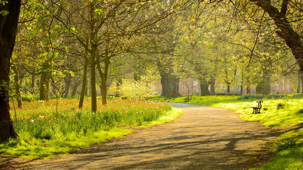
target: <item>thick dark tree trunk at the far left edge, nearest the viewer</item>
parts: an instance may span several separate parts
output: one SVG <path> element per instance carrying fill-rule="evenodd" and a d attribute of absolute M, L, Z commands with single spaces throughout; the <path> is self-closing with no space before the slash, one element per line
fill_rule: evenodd
<path fill-rule="evenodd" d="M 21 1 L 8 0 L 2 10 L 9 13 L 0 15 L 0 143 L 18 137 L 9 113 L 9 72 L 10 60 L 15 46 Z"/>

